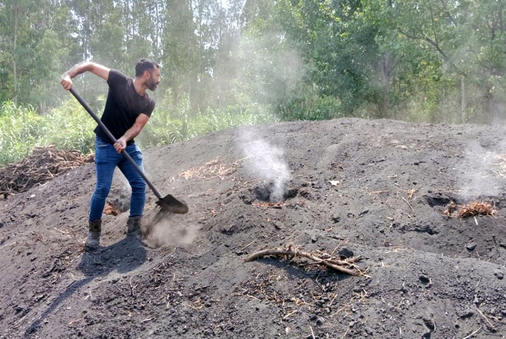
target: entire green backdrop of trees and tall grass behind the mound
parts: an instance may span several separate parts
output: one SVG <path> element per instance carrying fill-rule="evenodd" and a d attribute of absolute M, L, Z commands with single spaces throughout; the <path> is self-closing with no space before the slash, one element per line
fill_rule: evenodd
<path fill-rule="evenodd" d="M 91 149 L 93 121 L 75 103 L 59 107 L 69 99 L 60 74 L 90 59 L 131 77 L 141 57 L 161 64 L 152 133 L 144 136 L 152 145 L 276 119 L 506 121 L 501 1 L 226 3 L 4 0 L 0 102 L 10 107 L 4 115 L 16 110 L 19 118 L 3 121 L 15 130 L 3 137 L 26 139 L 9 142 L 6 159 L 34 142 Z M 95 98 L 105 95 L 105 81 L 87 73 L 74 83 L 95 110 L 103 106 Z M 40 124 L 38 132 L 23 130 L 21 117 Z M 57 132 L 64 129 L 71 135 Z"/>

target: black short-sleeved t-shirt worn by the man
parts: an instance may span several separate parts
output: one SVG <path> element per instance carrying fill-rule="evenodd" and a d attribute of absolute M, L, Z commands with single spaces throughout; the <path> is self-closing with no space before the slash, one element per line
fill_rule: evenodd
<path fill-rule="evenodd" d="M 147 93 L 139 95 L 134 88 L 134 80 L 115 69 L 109 71 L 107 84 L 109 85 L 109 92 L 107 93 L 104 113 L 100 120 L 112 135 L 119 139 L 128 129 L 134 126 L 135 120 L 141 113 L 151 117 L 155 102 Z M 111 142 L 100 126 L 95 128 L 95 134 L 105 141 Z M 128 145 L 133 143 L 134 140 L 127 142 Z"/>

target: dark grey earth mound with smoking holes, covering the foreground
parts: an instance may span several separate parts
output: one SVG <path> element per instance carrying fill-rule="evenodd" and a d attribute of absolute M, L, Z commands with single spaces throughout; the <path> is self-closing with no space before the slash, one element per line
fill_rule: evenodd
<path fill-rule="evenodd" d="M 0 338 L 503 338 L 505 135 L 342 119 L 145 150 L 148 177 L 190 212 L 149 246 L 125 239 L 128 212 L 104 215 L 92 253 L 94 166 L 71 170 L 0 201 Z M 116 173 L 110 201 L 123 187 Z M 497 214 L 446 216 L 451 201 Z M 244 262 L 289 245 L 361 256 L 366 276 Z"/>

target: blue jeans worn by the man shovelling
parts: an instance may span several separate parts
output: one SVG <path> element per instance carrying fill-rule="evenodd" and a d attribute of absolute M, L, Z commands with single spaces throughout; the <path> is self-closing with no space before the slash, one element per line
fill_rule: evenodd
<path fill-rule="evenodd" d="M 142 152 L 136 144 L 126 146 L 126 152 L 134 162 L 144 171 L 142 166 Z M 129 181 L 132 187 L 130 198 L 130 216 L 142 215 L 146 204 L 146 182 L 135 170 L 134 166 L 116 152 L 111 143 L 100 137 L 95 140 L 95 169 L 97 185 L 90 201 L 90 220 L 101 219 L 105 207 L 105 200 L 111 189 L 112 176 L 116 166 Z"/>

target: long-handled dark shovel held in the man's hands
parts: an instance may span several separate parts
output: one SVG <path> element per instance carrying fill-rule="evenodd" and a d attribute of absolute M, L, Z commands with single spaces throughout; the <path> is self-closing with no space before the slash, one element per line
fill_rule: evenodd
<path fill-rule="evenodd" d="M 88 106 L 86 102 L 84 102 L 81 97 L 74 91 L 73 88 L 70 88 L 70 93 L 79 101 L 79 103 L 82 105 L 82 107 L 85 107 L 85 109 L 88 111 L 88 113 L 92 116 L 93 119 L 97 122 L 97 124 L 102 128 L 102 130 L 107 134 L 109 139 L 111 139 L 112 143 L 116 143 L 116 138 L 112 135 L 112 133 L 105 127 L 104 123 L 97 117 L 95 112 L 91 110 L 91 108 Z M 179 201 L 178 199 L 174 198 L 170 194 L 167 194 L 165 197 L 162 198 L 161 194 L 158 192 L 158 190 L 155 189 L 155 186 L 148 180 L 144 172 L 141 170 L 139 166 L 135 163 L 134 159 L 130 157 L 130 155 L 126 152 L 125 149 L 122 151 L 123 156 L 128 160 L 132 166 L 134 166 L 135 170 L 139 172 L 139 174 L 143 177 L 144 181 L 148 184 L 149 188 L 153 191 L 155 196 L 158 198 L 158 201 L 156 204 L 162 209 L 164 212 L 172 212 L 172 213 L 178 213 L 178 214 L 185 214 L 188 213 L 188 206 L 186 206 L 185 203 Z"/>

